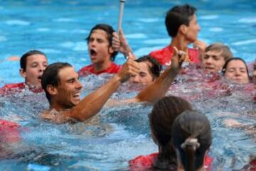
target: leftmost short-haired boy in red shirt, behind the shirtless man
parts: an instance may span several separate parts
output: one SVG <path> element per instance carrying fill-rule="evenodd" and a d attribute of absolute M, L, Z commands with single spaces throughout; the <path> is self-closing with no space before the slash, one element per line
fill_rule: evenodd
<path fill-rule="evenodd" d="M 0 93 L 21 92 L 26 87 L 32 92 L 42 92 L 41 77 L 48 65 L 46 55 L 39 50 L 30 50 L 21 56 L 20 65 L 20 75 L 25 82 L 6 84 L 0 89 Z"/>

